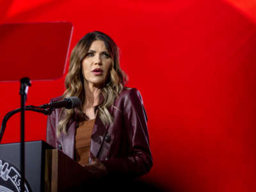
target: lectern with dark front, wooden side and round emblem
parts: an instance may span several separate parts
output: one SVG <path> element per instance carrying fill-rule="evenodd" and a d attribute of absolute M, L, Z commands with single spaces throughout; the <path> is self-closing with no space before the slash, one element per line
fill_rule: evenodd
<path fill-rule="evenodd" d="M 44 141 L 25 143 L 25 191 L 72 191 L 93 180 L 88 172 Z M 20 190 L 20 144 L 0 145 L 0 191 Z"/>

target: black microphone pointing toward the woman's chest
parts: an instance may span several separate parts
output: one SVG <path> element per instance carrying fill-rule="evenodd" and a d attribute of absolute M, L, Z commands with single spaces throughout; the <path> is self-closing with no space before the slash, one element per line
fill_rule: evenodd
<path fill-rule="evenodd" d="M 81 100 L 78 97 L 67 97 L 64 100 L 59 100 L 56 102 L 50 102 L 47 104 L 43 104 L 42 106 L 39 106 L 39 108 L 45 109 L 45 108 L 76 108 L 81 104 Z"/>

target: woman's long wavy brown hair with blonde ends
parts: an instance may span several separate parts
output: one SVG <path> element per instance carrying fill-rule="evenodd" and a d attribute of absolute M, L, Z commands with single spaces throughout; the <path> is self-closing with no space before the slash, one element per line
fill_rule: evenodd
<path fill-rule="evenodd" d="M 104 125 L 113 122 L 108 108 L 113 104 L 120 92 L 122 92 L 125 83 L 127 83 L 127 76 L 120 68 L 119 49 L 115 42 L 108 35 L 100 31 L 93 31 L 87 33 L 79 40 L 70 55 L 70 65 L 65 79 L 66 90 L 63 94 L 63 99 L 76 96 L 81 100 L 81 106 L 76 109 L 63 109 L 61 111 L 61 114 L 64 113 L 65 115 L 63 115 L 64 117 L 58 123 L 58 137 L 60 137 L 61 132 L 67 134 L 68 124 L 72 123 L 74 120 L 77 122 L 88 120 L 88 117 L 83 113 L 86 90 L 84 90 L 82 61 L 86 57 L 90 45 L 95 40 L 102 40 L 104 42 L 112 59 L 108 78 L 100 92 L 102 102 L 95 107 L 95 113 L 97 112 L 97 116 L 99 116 Z"/>

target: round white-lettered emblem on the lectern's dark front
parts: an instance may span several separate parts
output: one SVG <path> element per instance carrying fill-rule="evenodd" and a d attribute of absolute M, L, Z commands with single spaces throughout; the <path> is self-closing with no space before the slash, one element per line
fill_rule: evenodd
<path fill-rule="evenodd" d="M 0 159 L 0 191 L 19 192 L 21 184 L 20 172 L 13 164 Z M 28 182 L 25 182 L 25 191 L 31 191 L 28 188 Z"/>

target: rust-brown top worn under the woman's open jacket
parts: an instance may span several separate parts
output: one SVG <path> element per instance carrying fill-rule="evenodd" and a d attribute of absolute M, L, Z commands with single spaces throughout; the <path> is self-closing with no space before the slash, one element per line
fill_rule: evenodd
<path fill-rule="evenodd" d="M 81 165 L 89 163 L 92 129 L 95 119 L 79 123 L 76 129 L 76 161 Z"/>

